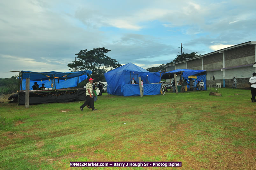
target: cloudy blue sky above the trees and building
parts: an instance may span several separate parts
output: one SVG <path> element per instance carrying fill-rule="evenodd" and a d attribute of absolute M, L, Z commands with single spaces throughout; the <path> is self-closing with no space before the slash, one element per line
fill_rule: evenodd
<path fill-rule="evenodd" d="M 182 52 L 206 54 L 256 40 L 255 0 L 0 1 L 0 78 L 70 72 L 80 50 L 105 47 L 144 69 Z"/>

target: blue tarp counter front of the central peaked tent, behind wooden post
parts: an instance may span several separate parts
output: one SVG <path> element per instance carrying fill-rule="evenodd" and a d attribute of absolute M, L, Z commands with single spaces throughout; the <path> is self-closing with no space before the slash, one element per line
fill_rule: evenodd
<path fill-rule="evenodd" d="M 161 83 L 143 84 L 144 95 L 159 95 Z M 140 96 L 139 84 L 123 84 L 121 86 L 122 96 Z"/>

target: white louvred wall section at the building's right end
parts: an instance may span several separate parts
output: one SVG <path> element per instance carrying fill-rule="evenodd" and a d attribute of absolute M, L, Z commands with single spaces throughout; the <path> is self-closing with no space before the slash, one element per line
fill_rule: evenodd
<path fill-rule="evenodd" d="M 250 78 L 252 77 L 252 73 L 255 72 L 255 67 L 240 67 L 226 70 L 225 79 L 236 78 Z"/>

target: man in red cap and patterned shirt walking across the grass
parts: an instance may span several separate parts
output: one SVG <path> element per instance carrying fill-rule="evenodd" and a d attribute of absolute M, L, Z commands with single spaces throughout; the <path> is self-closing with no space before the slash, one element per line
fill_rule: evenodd
<path fill-rule="evenodd" d="M 89 82 L 86 84 L 86 101 L 83 103 L 82 106 L 80 106 L 80 109 L 83 111 L 83 108 L 86 106 L 89 108 L 89 106 L 92 108 L 92 111 L 97 110 L 94 108 L 94 92 L 92 90 L 92 83 L 93 83 L 93 79 L 90 78 Z"/>

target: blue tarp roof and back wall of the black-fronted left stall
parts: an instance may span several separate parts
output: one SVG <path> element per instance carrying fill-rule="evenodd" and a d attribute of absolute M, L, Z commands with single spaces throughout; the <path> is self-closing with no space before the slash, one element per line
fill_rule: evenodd
<path fill-rule="evenodd" d="M 55 85 L 56 89 L 64 89 L 68 87 L 75 87 L 80 83 L 81 81 L 87 79 L 87 74 L 92 74 L 91 71 L 78 71 L 78 72 L 67 72 L 67 73 L 61 73 L 56 71 L 50 71 L 50 72 L 32 72 L 32 71 L 21 71 L 21 83 L 20 90 L 25 90 L 26 87 L 26 78 L 30 78 L 30 90 L 33 90 L 32 86 L 34 85 L 34 82 L 37 82 L 39 87 L 42 86 L 42 84 L 45 84 L 46 88 L 52 88 L 52 83 L 54 87 L 54 79 L 55 79 Z"/>

